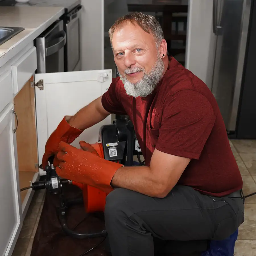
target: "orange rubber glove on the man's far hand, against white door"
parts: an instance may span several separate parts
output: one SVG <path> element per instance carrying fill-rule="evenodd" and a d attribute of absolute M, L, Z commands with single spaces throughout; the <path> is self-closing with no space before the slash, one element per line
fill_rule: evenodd
<path fill-rule="evenodd" d="M 59 161 L 56 158 L 56 154 L 59 151 L 59 143 L 64 141 L 68 144 L 72 143 L 81 133 L 83 130 L 79 130 L 71 125 L 66 121 L 64 117 L 55 131 L 50 135 L 48 138 L 46 145 L 45 145 L 45 153 L 42 159 L 42 167 L 45 168 L 48 165 L 48 158 L 50 156 L 55 155 L 53 160 L 53 166 L 58 166 Z"/>

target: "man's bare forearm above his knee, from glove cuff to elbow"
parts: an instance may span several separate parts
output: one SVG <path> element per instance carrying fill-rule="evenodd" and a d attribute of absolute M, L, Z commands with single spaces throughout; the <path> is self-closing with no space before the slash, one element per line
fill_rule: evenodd
<path fill-rule="evenodd" d="M 164 184 L 153 174 L 150 167 L 121 167 L 112 178 L 113 188 L 126 188 L 151 197 L 164 197 Z"/>

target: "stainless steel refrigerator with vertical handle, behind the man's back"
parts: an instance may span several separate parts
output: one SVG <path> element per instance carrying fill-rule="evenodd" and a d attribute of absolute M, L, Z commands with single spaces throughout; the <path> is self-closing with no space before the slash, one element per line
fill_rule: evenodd
<path fill-rule="evenodd" d="M 236 131 L 248 42 L 251 0 L 213 0 L 216 35 L 211 91 L 228 133 Z"/>

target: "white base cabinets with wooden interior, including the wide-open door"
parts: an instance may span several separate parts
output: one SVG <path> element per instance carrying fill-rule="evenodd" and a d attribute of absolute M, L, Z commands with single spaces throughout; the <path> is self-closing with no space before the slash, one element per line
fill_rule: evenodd
<path fill-rule="evenodd" d="M 25 57 L 31 57 L 34 50 L 27 53 Z M 20 192 L 20 188 L 30 186 L 45 174 L 39 165 L 47 139 L 65 115 L 74 115 L 100 97 L 112 82 L 111 69 L 32 74 L 27 80 L 33 67 L 21 72 L 27 77 L 21 76 L 20 82 L 19 71 L 24 70 L 26 61 L 23 58 L 16 63 L 10 69 L 17 79 L 7 90 L 7 95 L 14 93 L 13 98 L 8 98 L 9 103 L 0 110 L 0 256 L 11 256 L 34 194 L 32 189 Z M 10 83 L 10 69 L 1 76 L 0 85 Z M 97 142 L 100 127 L 110 123 L 108 116 L 86 129 L 72 145 L 79 147 L 79 140 Z"/>

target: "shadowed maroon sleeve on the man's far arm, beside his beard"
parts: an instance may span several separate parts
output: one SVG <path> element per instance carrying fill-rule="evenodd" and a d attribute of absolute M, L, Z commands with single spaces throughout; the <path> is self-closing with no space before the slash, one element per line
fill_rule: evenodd
<path fill-rule="evenodd" d="M 103 108 L 113 114 L 127 115 L 121 104 L 119 77 L 113 78 L 108 90 L 102 95 L 101 103 Z"/>

